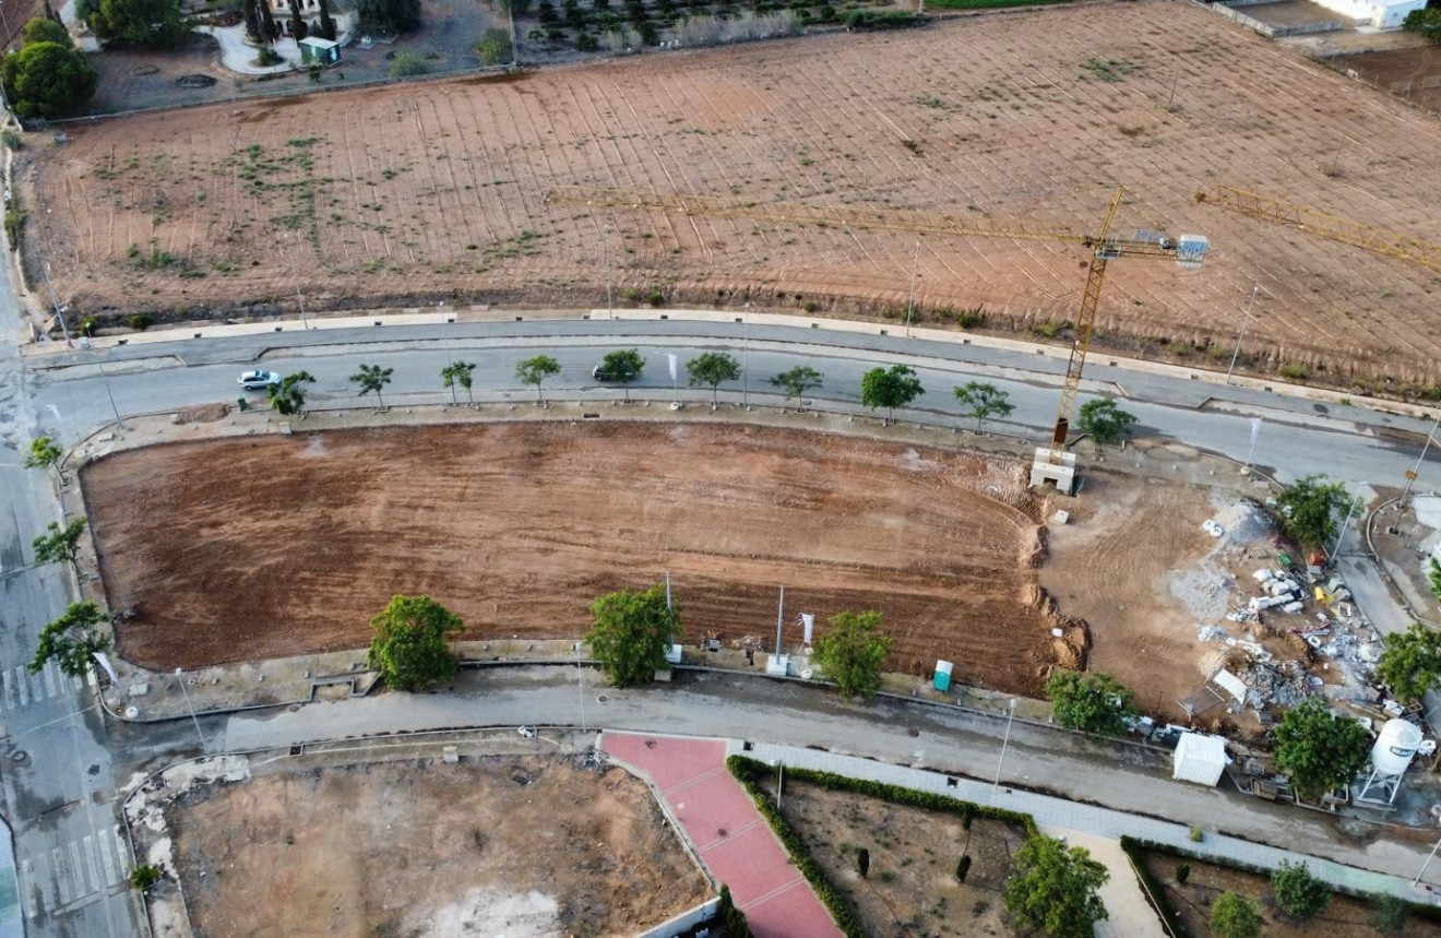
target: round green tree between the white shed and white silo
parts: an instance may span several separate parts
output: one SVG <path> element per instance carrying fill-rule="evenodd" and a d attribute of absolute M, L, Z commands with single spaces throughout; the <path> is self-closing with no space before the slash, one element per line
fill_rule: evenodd
<path fill-rule="evenodd" d="M 1331 713 L 1321 697 L 1287 710 L 1275 729 L 1275 764 L 1307 800 L 1349 785 L 1369 754 L 1370 739 L 1360 723 Z"/>

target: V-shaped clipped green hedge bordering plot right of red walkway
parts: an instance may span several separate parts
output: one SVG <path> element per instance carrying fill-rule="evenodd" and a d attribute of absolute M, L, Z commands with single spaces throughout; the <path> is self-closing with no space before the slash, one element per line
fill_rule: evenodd
<path fill-rule="evenodd" d="M 775 801 L 771 800 L 771 795 L 765 794 L 761 788 L 758 780 L 768 777 L 771 767 L 744 755 L 732 755 L 726 759 L 726 768 L 731 769 L 731 774 L 735 775 L 751 794 L 751 800 L 755 801 L 757 810 L 771 826 L 771 830 L 775 831 L 781 844 L 784 844 L 785 850 L 791 854 L 791 859 L 795 860 L 795 869 L 806 876 L 806 880 L 811 885 L 811 889 L 816 890 L 821 903 L 830 911 L 831 918 L 836 919 L 836 925 L 840 926 L 840 931 L 846 935 L 846 938 L 866 938 L 866 929 L 862 928 L 860 921 L 856 918 L 856 912 L 850 908 L 846 896 L 842 895 L 842 892 L 836 889 L 834 883 L 826 877 L 826 872 L 810 854 L 810 850 L 806 847 L 806 841 L 781 816 L 781 811 L 775 807 Z M 808 768 L 787 767 L 785 775 L 790 780 L 810 782 L 826 788 L 827 791 L 850 791 L 853 794 L 866 795 L 869 798 L 880 798 L 893 804 L 927 808 L 931 811 L 950 811 L 951 814 L 958 814 L 963 821 L 970 817 L 989 817 L 999 821 L 1009 821 L 1025 827 L 1027 837 L 1036 836 L 1036 821 L 1029 814 L 1020 814 L 1019 811 L 1006 811 L 1003 808 L 993 808 L 983 804 L 948 798 L 931 791 L 918 791 L 902 785 L 891 785 L 865 778 L 850 778 L 849 775 L 820 772 Z"/>

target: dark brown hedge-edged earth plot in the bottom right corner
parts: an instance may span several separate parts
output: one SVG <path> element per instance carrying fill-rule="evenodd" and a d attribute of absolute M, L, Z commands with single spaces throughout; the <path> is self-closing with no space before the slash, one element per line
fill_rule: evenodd
<path fill-rule="evenodd" d="M 1212 866 L 1200 860 L 1185 860 L 1190 865 L 1190 876 L 1185 885 L 1176 885 L 1176 865 L 1183 860 L 1176 857 L 1147 853 L 1146 866 L 1156 876 L 1157 882 L 1166 888 L 1172 906 L 1180 915 L 1187 934 L 1209 935 L 1210 903 L 1223 892 L 1235 892 L 1261 903 L 1261 916 L 1265 919 L 1264 932 L 1267 938 L 1304 938 L 1307 935 L 1327 935 L 1327 938 L 1379 938 L 1382 935 L 1370 924 L 1370 906 L 1350 896 L 1336 895 L 1326 912 L 1308 922 L 1295 922 L 1275 906 L 1271 893 L 1271 880 L 1267 876 L 1248 873 L 1244 870 Z M 1435 925 L 1411 918 L 1401 932 L 1411 938 L 1434 937 L 1441 934 Z"/>

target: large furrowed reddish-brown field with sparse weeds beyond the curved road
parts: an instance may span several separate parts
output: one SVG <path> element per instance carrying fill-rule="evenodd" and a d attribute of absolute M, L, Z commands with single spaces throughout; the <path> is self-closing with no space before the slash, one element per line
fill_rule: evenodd
<path fill-rule="evenodd" d="M 601 212 L 546 193 L 574 183 L 1092 231 L 1124 184 L 1117 232 L 1203 233 L 1213 251 L 1200 271 L 1112 265 L 1105 343 L 1223 360 L 1259 284 L 1248 354 L 1441 379 L 1435 272 L 1193 200 L 1231 184 L 1435 238 L 1435 117 L 1189 3 L 945 19 L 66 133 L 59 150 L 17 154 L 17 179 L 26 244 L 81 316 L 290 304 L 297 281 L 313 308 L 595 305 L 605 225 L 618 294 L 899 310 L 908 232 Z M 1075 317 L 1078 246 L 921 241 L 924 317 Z"/>

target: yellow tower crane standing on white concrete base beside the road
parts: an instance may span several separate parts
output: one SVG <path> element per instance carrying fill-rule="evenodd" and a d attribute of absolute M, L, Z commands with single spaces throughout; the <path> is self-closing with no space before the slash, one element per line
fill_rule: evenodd
<path fill-rule="evenodd" d="M 618 189 L 592 189 L 584 186 L 562 186 L 546 195 L 546 203 L 584 207 L 620 209 L 631 212 L 661 210 L 683 215 L 709 215 L 768 220 L 790 225 L 834 225 L 856 231 L 882 229 L 919 232 L 927 235 L 958 235 L 980 238 L 1012 238 L 1025 241 L 1050 241 L 1078 244 L 1091 251 L 1091 265 L 1085 290 L 1081 292 L 1081 311 L 1076 316 L 1075 339 L 1071 343 L 1071 359 L 1061 383 L 1061 402 L 1056 408 L 1056 425 L 1050 444 L 1036 448 L 1036 460 L 1030 468 L 1030 484 L 1053 483 L 1058 491 L 1071 493 L 1075 484 L 1075 454 L 1066 451 L 1066 437 L 1071 418 L 1075 415 L 1076 398 L 1081 395 L 1081 373 L 1085 369 L 1087 350 L 1095 331 L 1095 314 L 1101 303 L 1101 284 L 1105 280 L 1105 265 L 1120 258 L 1150 258 L 1176 261 L 1183 268 L 1200 267 L 1209 249 L 1209 242 L 1200 235 L 1170 238 L 1160 232 L 1140 232 L 1134 238 L 1115 238 L 1111 226 L 1121 207 L 1124 189 L 1115 196 L 1095 233 L 1079 233 L 1063 225 L 1048 222 L 990 219 L 957 219 L 927 212 L 875 212 L 855 206 L 810 206 L 795 203 L 746 202 L 715 196 L 687 196 L 680 193 L 641 193 Z"/>

